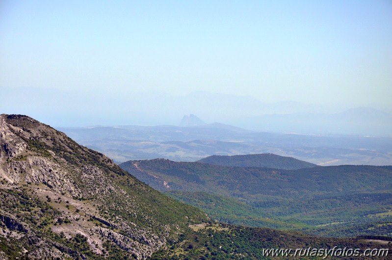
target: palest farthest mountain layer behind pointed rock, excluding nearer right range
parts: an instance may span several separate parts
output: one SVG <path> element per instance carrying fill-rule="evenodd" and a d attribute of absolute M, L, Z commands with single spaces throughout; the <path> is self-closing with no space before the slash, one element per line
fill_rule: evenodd
<path fill-rule="evenodd" d="M 194 114 L 206 123 L 232 124 L 246 129 L 247 127 L 235 122 L 265 115 L 332 115 L 361 107 L 374 108 L 379 113 L 392 115 L 392 107 L 381 104 L 349 106 L 294 101 L 268 103 L 252 96 L 207 91 L 187 95 L 170 95 L 164 92 L 120 95 L 110 91 L 90 94 L 86 91 L 75 93 L 70 90 L 22 87 L 17 88 L 16 92 L 18 100 L 14 99 L 14 89 L 3 91 L 1 113 L 26 114 L 55 127 L 178 126 L 183 115 Z M 45 102 L 31 102 L 43 98 Z"/>

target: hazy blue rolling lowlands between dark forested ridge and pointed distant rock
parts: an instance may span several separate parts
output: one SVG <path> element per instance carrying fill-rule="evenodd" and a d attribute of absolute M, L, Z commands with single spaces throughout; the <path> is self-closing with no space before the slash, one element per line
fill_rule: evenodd
<path fill-rule="evenodd" d="M 219 123 L 59 130 L 117 162 L 155 158 L 197 161 L 211 155 L 272 153 L 324 166 L 392 163 L 391 137 L 254 132 Z"/>

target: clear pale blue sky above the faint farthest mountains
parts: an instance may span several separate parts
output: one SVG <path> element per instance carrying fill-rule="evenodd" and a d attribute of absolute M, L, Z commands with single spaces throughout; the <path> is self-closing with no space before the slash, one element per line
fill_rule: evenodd
<path fill-rule="evenodd" d="M 392 1 L 1 0 L 16 87 L 392 105 Z"/>

